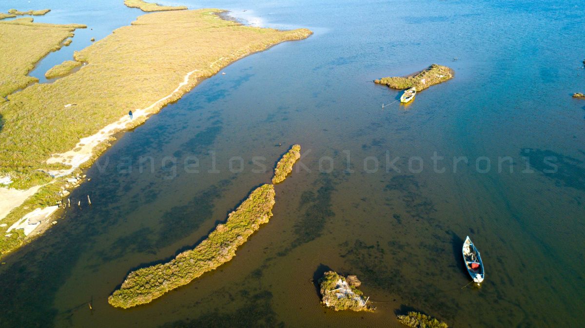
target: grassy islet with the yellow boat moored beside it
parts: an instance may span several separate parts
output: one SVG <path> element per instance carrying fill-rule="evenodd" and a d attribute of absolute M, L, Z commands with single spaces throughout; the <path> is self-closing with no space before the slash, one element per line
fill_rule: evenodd
<path fill-rule="evenodd" d="M 385 77 L 374 80 L 377 84 L 384 84 L 394 89 L 416 88 L 417 91 L 424 90 L 431 85 L 439 84 L 453 78 L 453 70 L 449 67 L 432 64 L 426 70 L 407 77 Z"/>

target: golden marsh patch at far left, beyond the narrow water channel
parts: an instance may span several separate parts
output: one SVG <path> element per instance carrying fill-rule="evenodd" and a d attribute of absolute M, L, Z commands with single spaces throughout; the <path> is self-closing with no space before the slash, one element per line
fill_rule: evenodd
<path fill-rule="evenodd" d="M 35 63 L 51 51 L 59 50 L 61 42 L 70 37 L 75 29 L 85 27 L 79 24 L 33 23 L 32 18 L 0 21 L 0 96 L 37 82 L 37 78 L 27 75 Z M 0 114 L 4 116 L 2 112 L 0 109 Z M 0 136 L 4 137 L 3 134 Z M 0 161 L 2 167 L 5 164 Z"/>

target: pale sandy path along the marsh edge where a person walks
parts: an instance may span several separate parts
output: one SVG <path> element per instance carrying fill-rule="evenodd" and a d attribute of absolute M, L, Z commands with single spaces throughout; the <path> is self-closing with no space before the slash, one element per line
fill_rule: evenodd
<path fill-rule="evenodd" d="M 165 102 L 168 98 L 171 98 L 173 95 L 175 95 L 177 92 L 179 92 L 182 87 L 187 85 L 189 83 L 189 78 L 191 77 L 191 74 L 193 74 L 194 72 L 197 72 L 197 71 L 199 71 L 199 70 L 194 70 L 194 71 L 188 72 L 185 75 L 183 82 L 181 82 L 178 85 L 178 87 L 176 89 L 174 89 L 173 92 L 171 92 L 171 94 L 164 96 L 163 98 L 160 98 L 159 100 L 154 102 L 152 105 L 148 106 L 147 108 L 136 109 L 135 111 L 132 111 L 133 119 L 146 118 L 147 115 L 149 115 L 150 113 L 153 112 L 153 109 L 157 109 L 157 106 L 159 106 L 161 103 Z M 75 168 L 78 168 L 81 164 L 90 160 L 90 158 L 92 156 L 92 151 L 94 150 L 95 146 L 98 146 L 98 144 L 108 140 L 116 132 L 125 129 L 126 125 L 130 122 L 132 122 L 132 119 L 130 119 L 130 116 L 125 115 L 125 116 L 123 116 L 123 118 L 119 119 L 117 122 L 114 122 L 114 123 L 111 123 L 110 125 L 105 126 L 103 129 L 99 130 L 98 133 L 96 133 L 92 136 L 89 136 L 89 137 L 82 138 L 77 143 L 77 146 L 75 146 L 75 149 L 77 149 L 77 150 L 70 150 L 70 151 L 67 151 L 66 153 L 62 153 L 62 154 L 54 154 L 53 157 L 51 157 L 51 158 L 49 158 L 49 160 L 47 160 L 47 164 L 63 163 L 63 164 L 71 165 L 71 168 L 69 168 L 68 170 L 48 171 L 48 173 L 50 175 L 53 175 L 53 177 L 62 177 L 63 175 L 71 174 L 71 172 L 73 172 L 73 170 L 75 170 Z"/>

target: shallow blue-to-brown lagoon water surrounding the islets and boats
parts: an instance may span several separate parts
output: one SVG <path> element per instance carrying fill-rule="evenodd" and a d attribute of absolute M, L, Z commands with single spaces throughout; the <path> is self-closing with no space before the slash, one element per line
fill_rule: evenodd
<path fill-rule="evenodd" d="M 186 4 L 315 34 L 233 63 L 121 134 L 71 195 L 93 205 L 68 209 L 3 259 L 1 327 L 399 327 L 394 315 L 408 309 L 454 327 L 583 322 L 585 102 L 570 97 L 585 89 L 578 2 Z M 141 13 L 75 6 L 81 16 L 67 22 L 88 26 Z M 431 63 L 455 79 L 381 109 L 398 92 L 371 80 Z M 306 168 L 277 185 L 274 217 L 230 263 L 149 305 L 108 305 L 130 270 L 197 244 L 269 182 L 293 143 Z M 199 172 L 185 171 L 190 157 Z M 467 164 L 453 170 L 454 157 Z M 481 288 L 462 288 L 467 234 L 486 265 Z M 309 279 L 327 268 L 357 274 L 378 311 L 322 308 Z"/>

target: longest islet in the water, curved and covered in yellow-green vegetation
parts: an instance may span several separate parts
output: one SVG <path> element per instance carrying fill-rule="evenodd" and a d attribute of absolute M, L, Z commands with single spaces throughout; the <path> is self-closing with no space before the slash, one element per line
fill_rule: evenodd
<path fill-rule="evenodd" d="M 274 186 L 256 188 L 238 209 L 229 213 L 226 223 L 218 225 L 197 247 L 178 254 L 168 263 L 130 272 L 108 302 L 125 309 L 149 303 L 228 262 L 236 255 L 238 246 L 269 221 L 273 206 Z"/>

